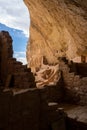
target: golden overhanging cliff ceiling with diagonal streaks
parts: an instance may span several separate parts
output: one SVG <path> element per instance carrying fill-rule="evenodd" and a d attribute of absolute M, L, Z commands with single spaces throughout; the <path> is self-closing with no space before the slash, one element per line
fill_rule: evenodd
<path fill-rule="evenodd" d="M 30 11 L 28 66 L 56 65 L 58 57 L 87 56 L 87 0 L 24 0 Z"/>

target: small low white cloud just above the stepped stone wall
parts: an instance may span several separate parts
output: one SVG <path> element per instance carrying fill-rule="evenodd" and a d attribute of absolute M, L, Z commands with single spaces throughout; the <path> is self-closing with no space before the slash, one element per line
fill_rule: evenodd
<path fill-rule="evenodd" d="M 17 61 L 21 61 L 23 64 L 27 64 L 26 52 L 14 52 L 14 57 L 17 58 Z"/>

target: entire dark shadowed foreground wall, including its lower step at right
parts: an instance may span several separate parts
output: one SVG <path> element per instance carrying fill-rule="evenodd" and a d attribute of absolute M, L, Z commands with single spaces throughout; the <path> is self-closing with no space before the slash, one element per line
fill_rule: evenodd
<path fill-rule="evenodd" d="M 65 130 L 65 115 L 55 106 L 48 108 L 44 93 L 37 88 L 0 93 L 0 130 L 50 130 L 55 122 Z"/>

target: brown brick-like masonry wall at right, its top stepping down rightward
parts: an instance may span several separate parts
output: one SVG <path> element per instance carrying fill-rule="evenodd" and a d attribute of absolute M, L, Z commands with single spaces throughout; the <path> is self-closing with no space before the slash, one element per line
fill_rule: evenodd
<path fill-rule="evenodd" d="M 80 77 L 74 72 L 70 73 L 70 68 L 63 61 L 60 62 L 64 85 L 65 99 L 70 103 L 87 104 L 87 77 Z"/>

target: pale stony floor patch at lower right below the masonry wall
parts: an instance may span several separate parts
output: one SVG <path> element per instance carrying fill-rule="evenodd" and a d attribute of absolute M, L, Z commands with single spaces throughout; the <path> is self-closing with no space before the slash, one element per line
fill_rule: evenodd
<path fill-rule="evenodd" d="M 64 109 L 69 118 L 87 124 L 87 106 L 61 104 L 59 107 Z"/>

